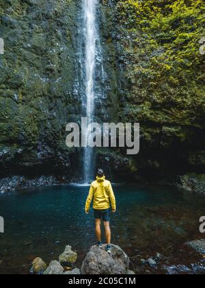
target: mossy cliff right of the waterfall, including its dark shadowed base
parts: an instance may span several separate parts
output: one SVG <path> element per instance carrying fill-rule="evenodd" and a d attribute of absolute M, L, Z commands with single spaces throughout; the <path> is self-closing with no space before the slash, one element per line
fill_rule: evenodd
<path fill-rule="evenodd" d="M 115 45 L 118 120 L 140 123 L 141 149 L 132 158 L 122 151 L 99 157 L 117 163 L 120 177 L 202 173 L 204 1 L 104 0 L 102 10 L 109 19 L 105 43 Z"/>

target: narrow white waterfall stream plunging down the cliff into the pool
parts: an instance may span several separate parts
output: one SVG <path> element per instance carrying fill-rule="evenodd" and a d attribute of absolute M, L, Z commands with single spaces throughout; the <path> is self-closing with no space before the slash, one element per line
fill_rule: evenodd
<path fill-rule="evenodd" d="M 96 70 L 96 27 L 97 0 L 83 0 L 83 25 L 85 39 L 85 101 L 87 124 L 94 120 L 94 76 Z M 90 133 L 87 129 L 85 136 Z M 85 147 L 83 152 L 84 182 L 88 183 L 94 177 L 94 149 Z"/>

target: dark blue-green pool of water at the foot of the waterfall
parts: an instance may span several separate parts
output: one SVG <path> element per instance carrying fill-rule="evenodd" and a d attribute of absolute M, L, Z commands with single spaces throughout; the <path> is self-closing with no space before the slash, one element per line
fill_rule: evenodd
<path fill-rule="evenodd" d="M 165 273 L 165 265 L 191 265 L 200 256 L 184 243 L 201 239 L 199 219 L 205 200 L 167 187 L 115 186 L 118 211 L 111 217 L 112 242 L 131 257 L 136 273 Z M 0 274 L 27 274 L 31 261 L 58 259 L 66 245 L 78 254 L 77 265 L 94 245 L 94 216 L 84 213 L 86 186 L 24 189 L 0 195 Z M 163 256 L 159 269 L 141 259 Z M 187 267 L 186 266 L 186 267 Z"/>

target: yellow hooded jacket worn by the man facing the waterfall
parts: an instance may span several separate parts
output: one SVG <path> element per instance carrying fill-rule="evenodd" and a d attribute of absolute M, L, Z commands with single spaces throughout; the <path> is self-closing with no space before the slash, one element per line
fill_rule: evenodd
<path fill-rule="evenodd" d="M 105 180 L 105 176 L 102 178 L 97 177 L 96 181 L 92 182 L 85 204 L 86 212 L 89 211 L 92 200 L 94 209 L 108 209 L 111 203 L 111 208 L 116 210 L 115 195 L 111 187 L 111 182 Z"/>

